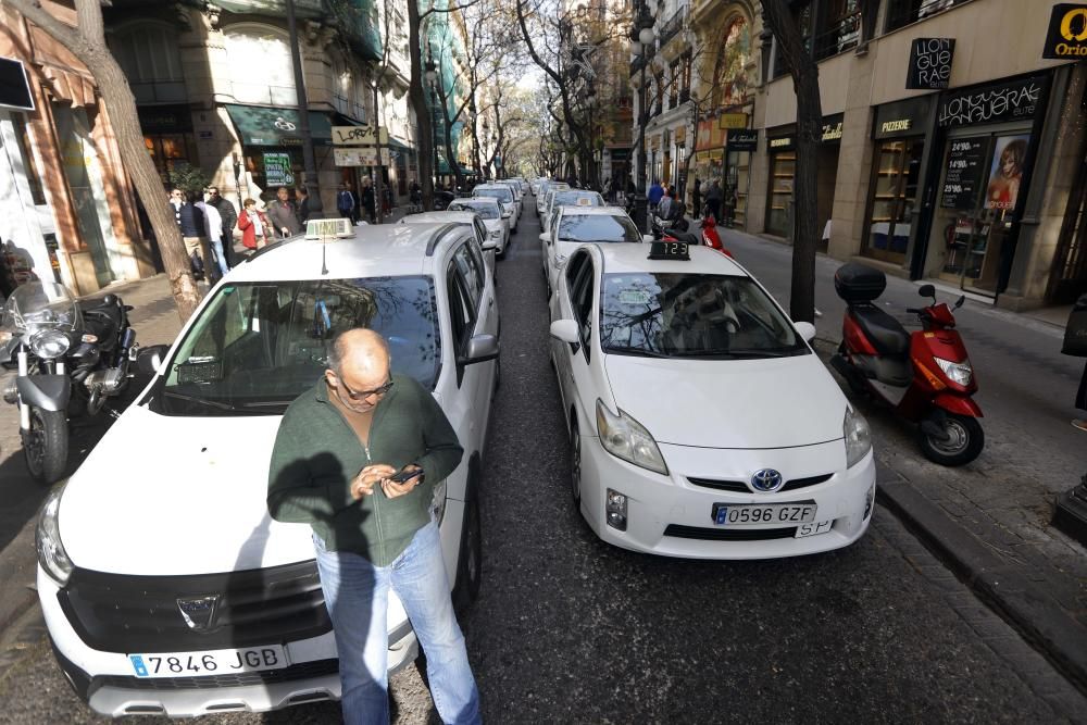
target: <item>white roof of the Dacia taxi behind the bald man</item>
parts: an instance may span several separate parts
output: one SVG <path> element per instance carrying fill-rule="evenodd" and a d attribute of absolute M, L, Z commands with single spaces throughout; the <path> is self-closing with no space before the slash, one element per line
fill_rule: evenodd
<path fill-rule="evenodd" d="M 322 241 L 299 235 L 268 245 L 234 267 L 226 283 L 425 274 L 430 257 L 468 233 L 462 224 L 448 222 L 374 224 L 353 232 L 349 239 Z"/>

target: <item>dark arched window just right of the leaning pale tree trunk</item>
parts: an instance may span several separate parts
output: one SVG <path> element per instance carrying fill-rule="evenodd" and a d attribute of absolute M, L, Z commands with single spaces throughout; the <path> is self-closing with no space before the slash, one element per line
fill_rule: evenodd
<path fill-rule="evenodd" d="M 185 101 L 177 32 L 171 25 L 154 22 L 125 25 L 110 36 L 109 45 L 137 103 Z"/>

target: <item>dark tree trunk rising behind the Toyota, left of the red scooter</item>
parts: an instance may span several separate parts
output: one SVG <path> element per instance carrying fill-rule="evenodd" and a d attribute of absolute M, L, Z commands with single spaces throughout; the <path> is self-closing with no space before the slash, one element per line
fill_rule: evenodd
<path fill-rule="evenodd" d="M 782 47 L 797 93 L 797 165 L 794 184 L 792 286 L 789 313 L 796 322 L 815 322 L 816 166 L 823 135 L 819 66 L 804 48 L 786 0 L 762 0 L 766 24 Z"/>

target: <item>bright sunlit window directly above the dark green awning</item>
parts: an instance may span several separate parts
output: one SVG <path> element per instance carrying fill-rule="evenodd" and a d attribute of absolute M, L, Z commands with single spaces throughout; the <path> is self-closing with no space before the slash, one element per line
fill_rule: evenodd
<path fill-rule="evenodd" d="M 287 34 L 266 25 L 232 25 L 226 38 L 234 98 L 241 103 L 298 105 Z"/>

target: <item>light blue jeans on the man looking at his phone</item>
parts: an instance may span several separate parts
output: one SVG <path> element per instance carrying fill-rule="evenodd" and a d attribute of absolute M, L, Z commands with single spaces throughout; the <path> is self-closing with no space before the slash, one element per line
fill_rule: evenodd
<path fill-rule="evenodd" d="M 339 652 L 343 722 L 389 722 L 386 615 L 390 586 L 426 653 L 430 697 L 442 722 L 482 722 L 479 693 L 449 595 L 438 525 L 432 521 L 418 529 L 389 566 L 374 566 L 350 552 L 327 551 L 317 536 L 313 543 Z"/>

